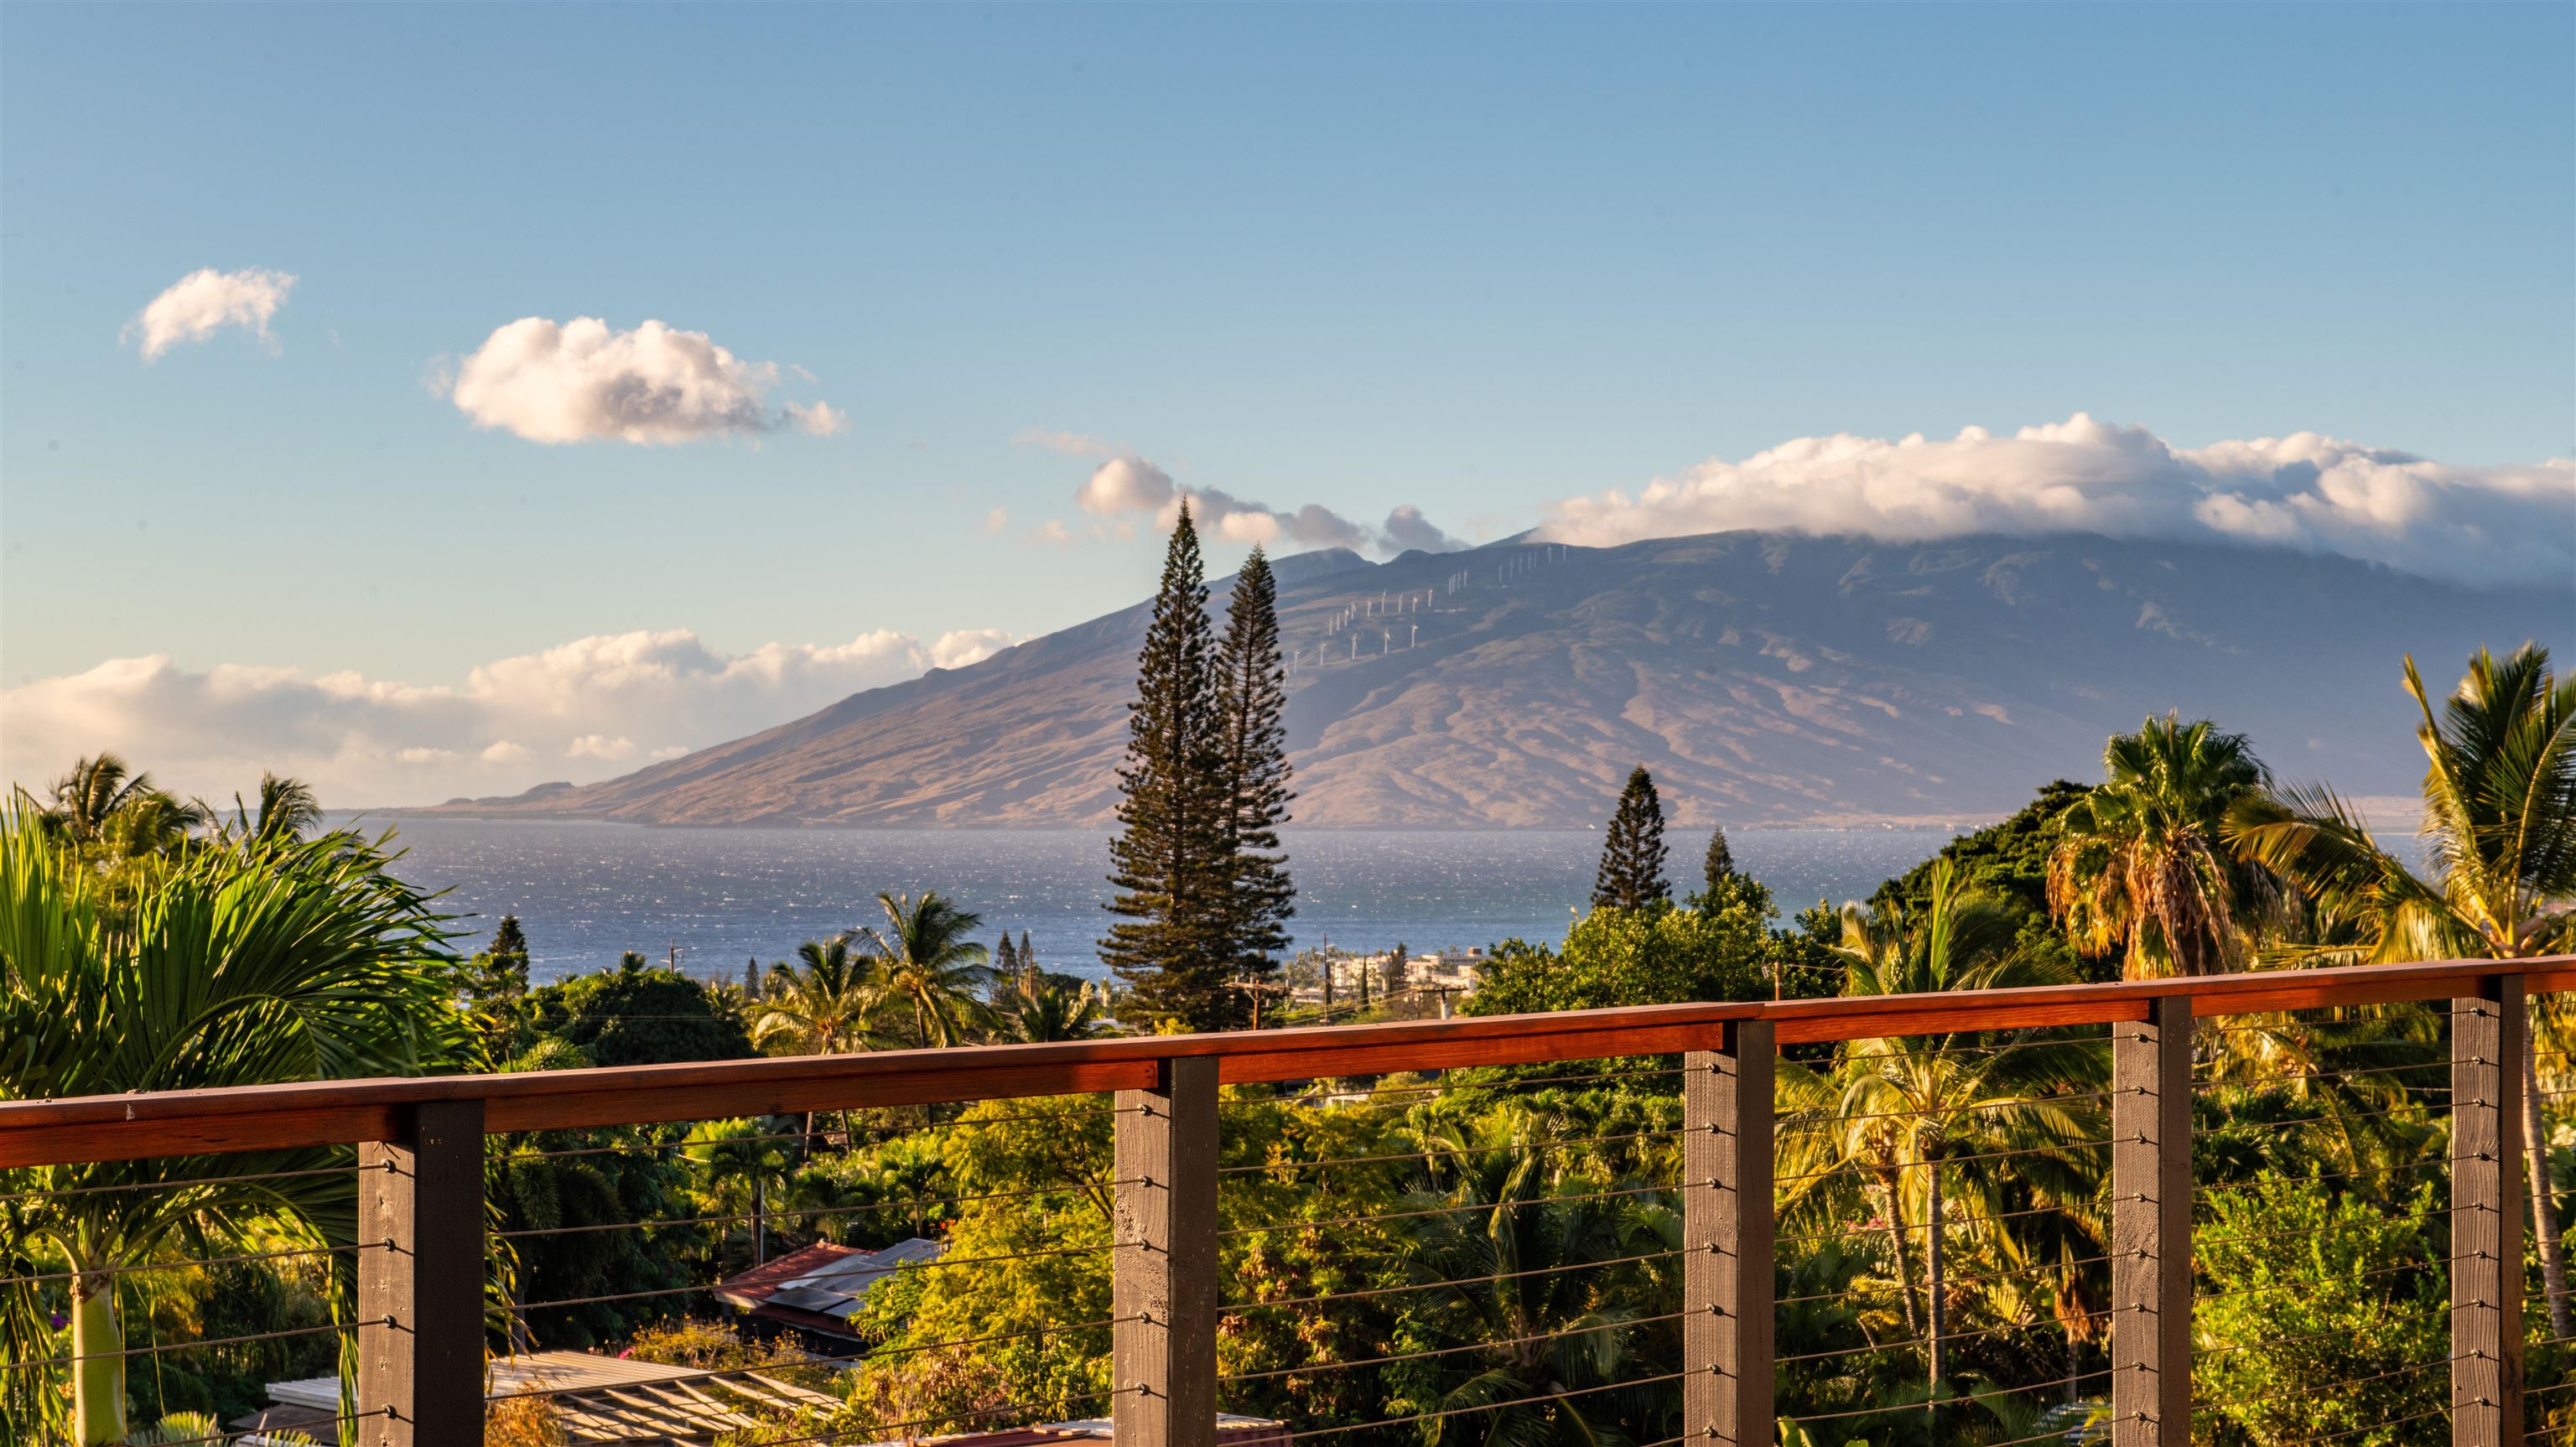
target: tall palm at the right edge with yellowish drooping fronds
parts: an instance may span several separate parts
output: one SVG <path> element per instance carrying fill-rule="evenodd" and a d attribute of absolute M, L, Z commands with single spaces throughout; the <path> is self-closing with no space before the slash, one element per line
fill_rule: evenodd
<path fill-rule="evenodd" d="M 2406 695 L 2424 744 L 2424 842 L 2434 878 L 2380 850 L 2360 814 L 2324 785 L 2246 798 L 2228 842 L 2316 906 L 2329 940 L 2313 960 L 2517 960 L 2576 945 L 2576 677 L 2553 677 L 2548 649 L 2509 659 L 2478 649 L 2434 713 L 2414 657 Z M 2532 1143 L 2532 1236 L 2550 1336 L 2576 1336 L 2566 1241 L 2548 1184 L 2537 1032 L 2524 1038 L 2522 1130 Z"/>

